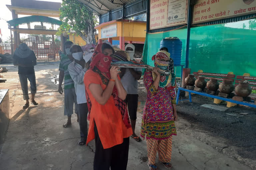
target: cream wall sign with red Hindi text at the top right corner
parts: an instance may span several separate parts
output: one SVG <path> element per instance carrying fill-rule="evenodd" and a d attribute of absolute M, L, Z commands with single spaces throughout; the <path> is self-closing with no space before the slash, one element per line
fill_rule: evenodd
<path fill-rule="evenodd" d="M 256 13 L 256 0 L 197 0 L 192 24 Z"/>

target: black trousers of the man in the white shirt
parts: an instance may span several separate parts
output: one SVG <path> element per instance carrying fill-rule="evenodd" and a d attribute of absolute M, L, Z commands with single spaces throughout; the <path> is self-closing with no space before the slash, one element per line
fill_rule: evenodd
<path fill-rule="evenodd" d="M 78 104 L 79 114 L 79 126 L 80 126 L 80 137 L 83 141 L 87 140 L 87 114 L 88 106 L 87 103 Z"/>

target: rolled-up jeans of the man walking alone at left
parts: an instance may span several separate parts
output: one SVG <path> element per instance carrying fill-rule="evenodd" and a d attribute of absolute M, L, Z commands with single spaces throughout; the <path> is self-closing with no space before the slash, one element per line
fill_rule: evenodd
<path fill-rule="evenodd" d="M 20 85 L 23 92 L 23 99 L 28 100 L 28 80 L 30 82 L 30 91 L 31 94 L 36 93 L 36 76 L 34 74 L 19 74 Z"/>

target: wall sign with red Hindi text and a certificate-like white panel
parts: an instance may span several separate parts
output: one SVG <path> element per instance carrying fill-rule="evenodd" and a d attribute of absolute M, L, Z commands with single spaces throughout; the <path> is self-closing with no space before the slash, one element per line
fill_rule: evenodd
<path fill-rule="evenodd" d="M 187 24 L 188 0 L 150 0 L 149 29 Z"/>

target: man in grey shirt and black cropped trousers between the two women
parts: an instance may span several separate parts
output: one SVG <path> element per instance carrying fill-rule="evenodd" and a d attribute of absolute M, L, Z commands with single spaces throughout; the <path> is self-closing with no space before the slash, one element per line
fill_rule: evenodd
<path fill-rule="evenodd" d="M 131 61 L 134 60 L 135 46 L 133 44 L 127 44 L 125 51 L 129 54 Z M 141 78 L 141 68 L 126 68 L 121 69 L 120 77 L 124 89 L 127 91 L 126 102 L 128 106 L 128 112 L 131 120 L 131 126 L 133 134 L 131 135 L 136 141 L 140 142 L 141 138 L 135 134 L 135 125 L 137 119 L 138 108 L 138 80 Z"/>

